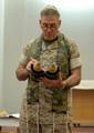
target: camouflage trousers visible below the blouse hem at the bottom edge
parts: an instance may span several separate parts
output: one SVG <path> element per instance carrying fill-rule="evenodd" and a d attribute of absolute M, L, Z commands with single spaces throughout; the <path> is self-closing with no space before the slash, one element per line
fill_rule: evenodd
<path fill-rule="evenodd" d="M 31 124 L 31 126 L 28 127 L 27 123 L 21 121 L 20 133 L 71 133 L 71 127 L 70 124 Z"/>

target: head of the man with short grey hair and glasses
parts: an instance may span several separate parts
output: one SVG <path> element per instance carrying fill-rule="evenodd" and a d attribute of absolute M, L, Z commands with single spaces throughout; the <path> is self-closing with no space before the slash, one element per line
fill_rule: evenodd
<path fill-rule="evenodd" d="M 41 11 L 40 25 L 43 38 L 52 41 L 56 38 L 61 24 L 60 13 L 54 6 L 46 6 Z"/>

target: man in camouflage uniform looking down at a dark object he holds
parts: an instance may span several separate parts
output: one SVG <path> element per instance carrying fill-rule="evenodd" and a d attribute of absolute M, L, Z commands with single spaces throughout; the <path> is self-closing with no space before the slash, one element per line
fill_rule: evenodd
<path fill-rule="evenodd" d="M 60 13 L 53 6 L 41 11 L 42 34 L 24 49 L 17 69 L 20 81 L 28 79 L 20 115 L 21 133 L 71 133 L 71 88 L 81 81 L 77 45 L 59 31 Z M 41 63 L 46 72 L 55 63 L 58 79 L 32 79 L 31 64 Z"/>

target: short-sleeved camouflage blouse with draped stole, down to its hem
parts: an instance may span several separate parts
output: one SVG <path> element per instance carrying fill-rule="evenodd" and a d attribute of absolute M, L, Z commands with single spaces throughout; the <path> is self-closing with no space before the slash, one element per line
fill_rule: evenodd
<path fill-rule="evenodd" d="M 61 33 L 53 42 L 45 42 L 42 37 L 30 42 L 23 50 L 20 63 L 25 63 L 30 58 L 39 60 L 43 71 L 48 71 L 52 63 L 56 63 L 62 80 L 70 76 L 72 69 L 81 65 L 77 45 Z M 70 89 L 49 89 L 31 78 L 28 81 L 25 99 L 30 123 L 36 124 L 40 121 L 42 124 L 52 124 L 53 112 L 56 113 L 55 123 L 67 121 Z"/>

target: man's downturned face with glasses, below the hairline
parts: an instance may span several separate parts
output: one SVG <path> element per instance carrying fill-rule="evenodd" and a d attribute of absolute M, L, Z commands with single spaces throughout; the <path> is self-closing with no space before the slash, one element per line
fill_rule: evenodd
<path fill-rule="evenodd" d="M 58 17 L 42 17 L 40 20 L 40 25 L 44 39 L 51 41 L 53 40 L 59 32 L 60 19 Z"/>

